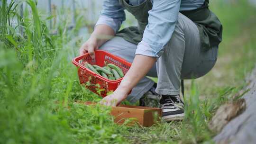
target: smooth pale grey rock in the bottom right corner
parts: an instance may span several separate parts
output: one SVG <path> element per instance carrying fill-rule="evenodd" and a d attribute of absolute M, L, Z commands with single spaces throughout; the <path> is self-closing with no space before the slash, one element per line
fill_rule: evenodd
<path fill-rule="evenodd" d="M 231 118 L 231 121 L 213 138 L 216 144 L 256 144 L 256 68 L 247 82 L 249 84 L 245 90 L 249 91 L 242 97 L 247 108 L 238 117 Z M 217 122 L 215 120 L 212 123 Z M 217 130 L 221 129 L 221 126 L 215 127 Z"/>

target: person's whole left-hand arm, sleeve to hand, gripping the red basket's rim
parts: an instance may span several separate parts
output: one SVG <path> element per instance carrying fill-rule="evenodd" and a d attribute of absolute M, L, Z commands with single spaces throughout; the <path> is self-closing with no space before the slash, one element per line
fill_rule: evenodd
<path fill-rule="evenodd" d="M 125 12 L 119 4 L 119 1 L 104 0 L 101 16 L 90 38 L 81 46 L 79 51 L 80 55 L 89 53 L 94 59 L 94 51 L 115 36 L 124 20 Z"/>

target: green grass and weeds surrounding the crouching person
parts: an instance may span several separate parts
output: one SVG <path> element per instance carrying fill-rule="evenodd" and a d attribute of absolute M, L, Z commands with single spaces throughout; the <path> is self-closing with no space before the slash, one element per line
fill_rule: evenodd
<path fill-rule="evenodd" d="M 56 24 L 51 35 L 46 20 L 33 0 L 26 0 L 24 18 L 12 0 L 1 0 L 0 17 L 0 143 L 136 143 L 197 144 L 215 135 L 208 122 L 216 108 L 245 85 L 244 78 L 256 62 L 255 9 L 237 1 L 212 2 L 210 8 L 223 23 L 223 42 L 218 63 L 203 78 L 186 81 L 183 122 L 160 121 L 151 127 L 120 126 L 113 123 L 110 108 L 74 104 L 74 100 L 101 98 L 79 84 L 71 59 L 78 54 L 79 24 L 67 31 L 69 21 Z M 30 12 L 31 11 L 31 14 Z M 61 13 L 60 13 L 61 14 Z M 18 19 L 18 25 L 10 19 Z M 24 35 L 18 34 L 24 27 Z M 64 101 L 64 102 L 58 102 Z"/>

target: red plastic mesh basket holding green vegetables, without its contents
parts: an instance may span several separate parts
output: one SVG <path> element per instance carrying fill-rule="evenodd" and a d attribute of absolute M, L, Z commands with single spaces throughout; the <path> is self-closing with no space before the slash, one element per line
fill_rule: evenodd
<path fill-rule="evenodd" d="M 92 72 L 90 69 L 86 68 L 84 64 L 85 62 L 88 62 L 90 64 L 96 64 L 102 67 L 105 65 L 105 61 L 107 63 L 114 63 L 119 66 L 124 74 L 128 72 L 131 66 L 131 63 L 125 61 L 124 59 L 102 50 L 95 51 L 94 60 L 92 60 L 91 56 L 87 53 L 75 57 L 72 61 L 73 64 L 78 67 L 78 76 L 80 83 L 85 84 L 87 89 L 102 97 L 107 96 L 108 92 L 116 90 L 123 78 L 114 81 L 108 80 L 103 76 Z"/>

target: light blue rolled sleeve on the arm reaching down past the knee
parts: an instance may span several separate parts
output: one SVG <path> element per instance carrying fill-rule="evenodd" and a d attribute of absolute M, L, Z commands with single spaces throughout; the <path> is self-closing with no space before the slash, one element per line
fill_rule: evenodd
<path fill-rule="evenodd" d="M 171 39 L 178 18 L 181 0 L 152 0 L 148 11 L 148 25 L 136 54 L 160 57 L 164 46 Z"/>

